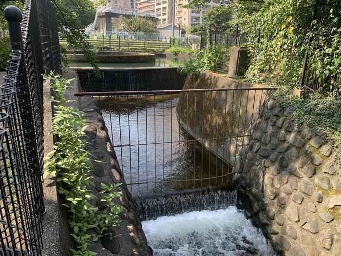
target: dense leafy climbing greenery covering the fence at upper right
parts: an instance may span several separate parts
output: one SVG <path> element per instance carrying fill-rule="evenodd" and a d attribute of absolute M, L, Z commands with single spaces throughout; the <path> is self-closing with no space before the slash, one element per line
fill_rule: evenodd
<path fill-rule="evenodd" d="M 239 24 L 251 55 L 246 77 L 258 79 L 263 73 L 297 85 L 307 51 L 308 86 L 323 95 L 341 98 L 341 6 L 338 0 L 320 1 L 317 20 L 311 24 L 314 5 L 313 0 L 234 3 L 231 23 Z M 255 36 L 258 31 L 259 43 Z"/>

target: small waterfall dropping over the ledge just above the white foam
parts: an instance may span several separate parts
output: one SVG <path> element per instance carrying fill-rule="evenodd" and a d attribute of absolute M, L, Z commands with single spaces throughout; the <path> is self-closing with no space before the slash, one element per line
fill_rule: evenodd
<path fill-rule="evenodd" d="M 141 220 L 155 219 L 192 211 L 226 209 L 237 204 L 236 191 L 210 191 L 169 197 L 135 198 L 134 205 Z"/>

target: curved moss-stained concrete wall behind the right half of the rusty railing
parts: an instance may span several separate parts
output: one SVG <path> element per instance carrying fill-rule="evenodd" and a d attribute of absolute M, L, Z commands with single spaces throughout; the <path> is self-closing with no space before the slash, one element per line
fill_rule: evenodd
<path fill-rule="evenodd" d="M 176 109 L 182 127 L 232 166 L 242 154 L 243 141 L 248 139 L 268 90 L 252 90 L 260 85 L 212 72 L 189 75 L 184 85 L 184 89 L 242 87 L 251 90 L 181 93 Z"/>

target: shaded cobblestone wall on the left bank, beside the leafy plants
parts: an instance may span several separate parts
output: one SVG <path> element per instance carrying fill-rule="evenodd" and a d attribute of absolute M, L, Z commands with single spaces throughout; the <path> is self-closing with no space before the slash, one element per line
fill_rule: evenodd
<path fill-rule="evenodd" d="M 94 158 L 93 182 L 95 188 L 92 192 L 97 197 L 95 204 L 100 210 L 104 210 L 106 207 L 101 202 L 101 183 L 106 185 L 122 183 L 119 188 L 122 194 L 116 203 L 122 206 L 123 212 L 119 214 L 120 225 L 113 230 L 113 233 L 119 236 L 112 240 L 102 237 L 90 249 L 94 250 L 98 256 L 152 255 L 142 230 L 141 221 L 135 213 L 132 196 L 127 189 L 97 102 L 91 97 L 78 97 L 78 108 L 85 113 L 83 117 L 88 125 L 85 130 L 88 140 L 86 150 Z"/>

